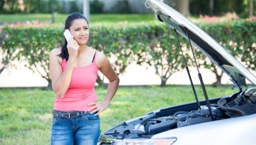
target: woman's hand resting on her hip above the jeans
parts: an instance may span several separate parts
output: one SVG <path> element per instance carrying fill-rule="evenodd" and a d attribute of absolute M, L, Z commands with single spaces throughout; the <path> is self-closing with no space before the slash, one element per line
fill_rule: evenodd
<path fill-rule="evenodd" d="M 100 113 L 104 110 L 106 110 L 106 108 L 109 106 L 109 103 L 107 101 L 102 101 L 102 102 L 92 102 L 90 104 L 88 104 L 88 106 L 92 106 L 91 108 L 89 108 L 89 112 L 90 113 L 95 113 L 98 111 L 98 113 L 96 113 L 95 115 L 100 115 Z M 92 111 L 91 111 L 92 110 Z"/>

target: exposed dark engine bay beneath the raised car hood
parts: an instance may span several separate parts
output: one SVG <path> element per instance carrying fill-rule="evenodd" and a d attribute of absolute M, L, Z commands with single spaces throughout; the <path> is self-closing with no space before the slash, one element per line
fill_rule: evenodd
<path fill-rule="evenodd" d="M 175 128 L 212 122 L 205 101 L 196 109 L 196 103 L 163 108 L 143 117 L 123 122 L 104 133 L 115 139 L 150 138 L 152 135 Z M 256 113 L 256 88 L 249 88 L 228 97 L 210 100 L 214 120 L 252 115 Z M 195 108 L 194 110 L 191 110 Z"/>

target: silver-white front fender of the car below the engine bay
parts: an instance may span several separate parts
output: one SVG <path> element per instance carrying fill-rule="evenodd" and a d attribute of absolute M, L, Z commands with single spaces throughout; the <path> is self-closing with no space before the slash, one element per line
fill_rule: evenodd
<path fill-rule="evenodd" d="M 189 145 L 253 145 L 256 144 L 256 115 L 222 119 L 176 128 L 152 138 L 177 137 L 176 144 Z"/>

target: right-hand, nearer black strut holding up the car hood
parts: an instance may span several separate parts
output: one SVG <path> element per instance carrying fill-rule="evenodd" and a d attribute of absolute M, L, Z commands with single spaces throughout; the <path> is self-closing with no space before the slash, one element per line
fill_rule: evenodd
<path fill-rule="evenodd" d="M 188 35 L 188 31 L 187 31 L 187 28 L 183 27 L 185 29 L 185 32 L 186 32 L 186 35 L 188 36 L 188 41 L 190 41 L 190 36 Z M 192 48 L 192 44 L 191 44 L 191 41 L 190 41 L 190 48 L 192 50 L 192 54 L 193 54 L 193 57 L 194 57 L 194 63 L 196 64 L 196 69 L 197 69 L 197 72 L 198 72 L 198 76 L 199 76 L 199 80 L 200 80 L 200 84 L 201 84 L 201 88 L 203 90 L 203 95 L 205 97 L 205 100 L 206 100 L 206 103 L 207 103 L 207 106 L 208 106 L 208 110 L 209 110 L 209 113 L 210 113 L 210 117 L 212 118 L 212 121 L 214 121 L 214 117 L 212 115 L 212 108 L 210 106 L 210 101 L 209 101 L 209 98 L 208 98 L 208 95 L 206 93 L 206 90 L 205 90 L 205 85 L 203 84 L 203 78 L 202 78 L 202 75 L 201 73 L 199 72 L 199 67 L 196 63 L 196 57 L 194 56 L 194 49 Z"/>

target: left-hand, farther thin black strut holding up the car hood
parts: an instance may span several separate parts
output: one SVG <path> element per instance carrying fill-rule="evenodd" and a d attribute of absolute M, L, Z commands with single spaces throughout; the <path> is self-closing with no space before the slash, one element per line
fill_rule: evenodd
<path fill-rule="evenodd" d="M 180 41 L 179 41 L 179 37 L 178 37 L 178 34 L 177 34 L 176 29 L 174 29 L 174 32 L 175 32 L 176 37 L 177 37 L 177 39 L 178 39 L 178 46 L 179 46 L 179 48 L 180 48 L 180 50 L 181 50 L 181 54 L 182 54 L 182 57 L 183 57 L 183 63 L 184 63 L 185 66 L 186 66 L 186 70 L 187 70 L 187 72 L 188 72 L 188 77 L 190 78 L 190 84 L 191 84 L 191 86 L 192 86 L 192 90 L 193 90 L 193 93 L 194 93 L 194 97 L 196 98 L 196 103 L 197 103 L 197 106 L 199 107 L 199 110 L 200 110 L 201 107 L 200 107 L 199 99 L 198 99 L 198 97 L 197 97 L 197 95 L 196 95 L 196 90 L 194 89 L 194 84 L 193 84 L 193 81 L 192 81 L 192 79 L 191 79 L 190 70 L 188 70 L 188 64 L 187 64 L 187 62 L 185 61 L 185 57 L 184 57 L 183 51 L 182 51 L 182 49 L 181 49 L 181 43 L 180 43 Z"/>

